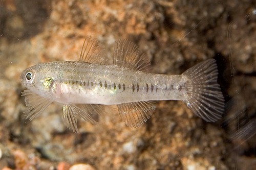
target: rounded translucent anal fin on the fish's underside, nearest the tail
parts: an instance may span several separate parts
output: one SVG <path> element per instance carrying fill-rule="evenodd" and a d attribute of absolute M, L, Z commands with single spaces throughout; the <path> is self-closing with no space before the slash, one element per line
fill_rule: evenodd
<path fill-rule="evenodd" d="M 150 118 L 156 108 L 151 101 L 122 103 L 117 107 L 122 120 L 131 128 L 140 127 Z"/>

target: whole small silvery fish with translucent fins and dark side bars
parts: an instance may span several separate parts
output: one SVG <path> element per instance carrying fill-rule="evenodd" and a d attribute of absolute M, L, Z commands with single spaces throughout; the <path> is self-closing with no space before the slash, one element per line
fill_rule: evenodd
<path fill-rule="evenodd" d="M 52 102 L 63 104 L 65 125 L 75 133 L 78 118 L 97 124 L 91 114 L 102 106 L 117 106 L 123 122 L 138 128 L 154 113 L 154 101 L 178 100 L 206 122 L 216 122 L 224 111 L 215 59 L 208 59 L 181 75 L 150 72 L 151 62 L 127 39 L 114 45 L 113 64 L 96 39 L 86 37 L 79 61 L 39 63 L 20 74 L 26 119 L 34 119 Z M 85 109 L 77 106 L 81 104 Z"/>

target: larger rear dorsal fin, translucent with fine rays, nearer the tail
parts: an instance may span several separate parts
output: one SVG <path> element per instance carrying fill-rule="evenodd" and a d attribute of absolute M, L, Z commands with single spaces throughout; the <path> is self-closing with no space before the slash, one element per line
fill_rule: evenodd
<path fill-rule="evenodd" d="M 119 39 L 115 42 L 114 64 L 140 71 L 148 71 L 151 65 L 148 57 L 139 50 L 138 46 L 127 39 Z"/>

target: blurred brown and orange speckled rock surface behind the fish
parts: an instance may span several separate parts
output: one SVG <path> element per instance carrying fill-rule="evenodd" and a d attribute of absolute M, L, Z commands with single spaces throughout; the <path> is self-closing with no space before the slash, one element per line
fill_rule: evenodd
<path fill-rule="evenodd" d="M 0 169 L 255 169 L 255 2 L 10 0 L 0 10 Z M 75 134 L 58 103 L 26 120 L 20 72 L 78 60 L 88 35 L 109 63 L 116 40 L 133 41 L 160 74 L 215 58 L 223 118 L 206 123 L 183 102 L 160 101 L 138 129 L 110 110 L 98 126 L 79 120 Z"/>

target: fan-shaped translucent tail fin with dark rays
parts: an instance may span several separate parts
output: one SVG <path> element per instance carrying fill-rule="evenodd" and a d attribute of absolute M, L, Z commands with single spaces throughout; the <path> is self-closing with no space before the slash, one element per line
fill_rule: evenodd
<path fill-rule="evenodd" d="M 224 97 L 217 83 L 215 59 L 203 61 L 183 72 L 187 76 L 187 107 L 206 122 L 216 122 L 224 111 Z"/>

